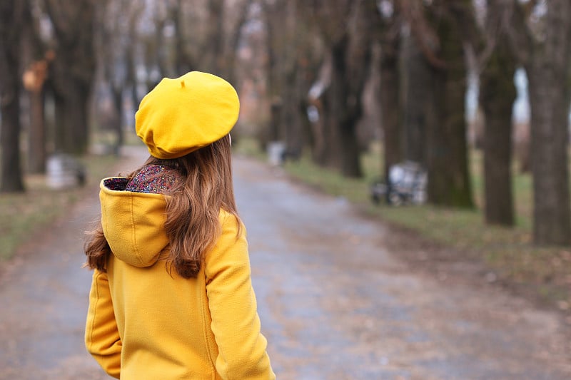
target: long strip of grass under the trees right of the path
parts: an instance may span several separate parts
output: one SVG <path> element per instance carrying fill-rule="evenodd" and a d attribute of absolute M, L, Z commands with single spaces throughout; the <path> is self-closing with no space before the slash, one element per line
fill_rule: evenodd
<path fill-rule="evenodd" d="M 471 156 L 473 193 L 477 204 L 475 210 L 430 205 L 373 205 L 370 202 L 369 185 L 381 173 L 380 150 L 373 148 L 363 155 L 362 160 L 365 177 L 359 180 L 343 178 L 333 170 L 319 168 L 308 158 L 288 162 L 284 169 L 303 183 L 330 195 L 345 197 L 372 217 L 408 232 L 412 231 L 423 240 L 452 249 L 455 255 L 452 260 L 477 260 L 502 284 L 537 301 L 571 312 L 571 247 L 532 245 L 530 175 L 514 172 L 517 223 L 515 227 L 506 228 L 486 225 L 484 222 L 480 207 L 483 198 L 480 153 Z M 438 260 L 435 257 L 433 259 Z"/>

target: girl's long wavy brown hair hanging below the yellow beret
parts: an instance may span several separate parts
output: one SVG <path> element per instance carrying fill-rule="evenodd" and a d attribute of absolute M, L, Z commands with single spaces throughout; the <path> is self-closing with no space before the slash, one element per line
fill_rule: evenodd
<path fill-rule="evenodd" d="M 168 269 L 174 267 L 181 277 L 196 277 L 204 255 L 221 233 L 220 210 L 229 212 L 236 217 L 238 226 L 241 225 L 234 199 L 230 137 L 226 135 L 181 158 L 151 157 L 141 168 L 157 163 L 177 170 L 180 175 L 166 194 L 164 228 L 170 248 L 166 265 Z M 132 178 L 141 168 L 128 177 Z M 103 235 L 101 222 L 88 235 L 86 267 L 105 272 L 111 248 Z"/>

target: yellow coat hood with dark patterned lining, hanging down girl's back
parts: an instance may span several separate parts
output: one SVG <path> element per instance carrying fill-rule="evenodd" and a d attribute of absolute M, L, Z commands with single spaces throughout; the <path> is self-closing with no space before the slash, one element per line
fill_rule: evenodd
<path fill-rule="evenodd" d="M 101 225 L 113 255 L 135 267 L 155 264 L 168 245 L 162 194 L 125 191 L 129 178 L 105 178 L 99 185 Z"/>

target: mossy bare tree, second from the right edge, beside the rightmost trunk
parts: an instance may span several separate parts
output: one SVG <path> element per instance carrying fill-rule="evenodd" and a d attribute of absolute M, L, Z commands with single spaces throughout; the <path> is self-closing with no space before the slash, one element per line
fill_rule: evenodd
<path fill-rule="evenodd" d="M 480 82 L 479 103 L 485 123 L 484 150 L 485 220 L 490 224 L 513 225 L 512 197 L 512 107 L 515 101 L 514 74 L 517 61 L 510 51 L 502 9 L 495 0 L 477 8 L 450 6 L 469 44 L 470 71 Z"/>

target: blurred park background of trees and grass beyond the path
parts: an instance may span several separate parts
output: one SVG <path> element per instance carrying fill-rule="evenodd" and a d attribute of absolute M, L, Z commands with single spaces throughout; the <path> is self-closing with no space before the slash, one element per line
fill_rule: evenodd
<path fill-rule="evenodd" d="M 4 260 L 115 174 L 161 78 L 198 70 L 240 94 L 238 153 L 570 309 L 570 1 L 0 4 Z"/>

